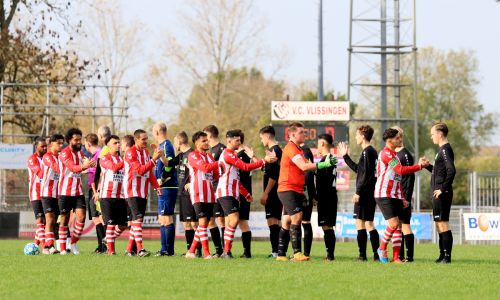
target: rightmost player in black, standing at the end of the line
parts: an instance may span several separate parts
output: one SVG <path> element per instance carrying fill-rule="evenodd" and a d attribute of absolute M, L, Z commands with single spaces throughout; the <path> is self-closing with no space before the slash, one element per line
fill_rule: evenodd
<path fill-rule="evenodd" d="M 437 122 L 431 128 L 431 139 L 439 145 L 434 165 L 427 170 L 432 172 L 432 215 L 439 233 L 439 258 L 437 263 L 451 263 L 453 235 L 449 227 L 451 202 L 453 200 L 453 179 L 455 179 L 455 155 L 448 142 L 448 126 Z"/>

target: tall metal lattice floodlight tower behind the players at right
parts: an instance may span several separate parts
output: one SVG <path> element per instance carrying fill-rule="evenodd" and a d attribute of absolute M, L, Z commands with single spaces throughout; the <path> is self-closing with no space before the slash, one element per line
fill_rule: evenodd
<path fill-rule="evenodd" d="M 351 0 L 348 55 L 347 100 L 372 109 L 365 111 L 370 117 L 352 121 L 379 123 L 381 132 L 391 125 L 412 126 L 414 140 L 409 148 L 418 158 L 416 0 Z M 403 116 L 402 105 L 413 112 Z M 417 174 L 417 210 L 419 194 Z"/>

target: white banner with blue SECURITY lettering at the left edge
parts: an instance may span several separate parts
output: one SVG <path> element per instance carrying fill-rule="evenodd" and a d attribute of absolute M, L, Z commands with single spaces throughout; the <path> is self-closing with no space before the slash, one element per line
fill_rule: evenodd
<path fill-rule="evenodd" d="M 31 144 L 0 144 L 0 169 L 26 169 L 31 154 L 33 154 Z"/>

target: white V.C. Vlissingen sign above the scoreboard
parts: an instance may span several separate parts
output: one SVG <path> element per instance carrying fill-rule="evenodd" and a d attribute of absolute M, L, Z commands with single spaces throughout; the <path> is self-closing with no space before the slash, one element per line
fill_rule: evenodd
<path fill-rule="evenodd" d="M 349 121 L 348 101 L 272 101 L 273 121 Z"/>

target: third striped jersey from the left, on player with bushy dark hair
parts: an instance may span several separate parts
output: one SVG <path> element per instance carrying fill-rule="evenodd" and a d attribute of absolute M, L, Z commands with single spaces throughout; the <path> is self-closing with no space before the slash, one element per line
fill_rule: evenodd
<path fill-rule="evenodd" d="M 59 196 L 81 196 L 82 190 L 82 165 L 83 151 L 72 151 L 71 146 L 64 148 L 59 153 Z"/>

